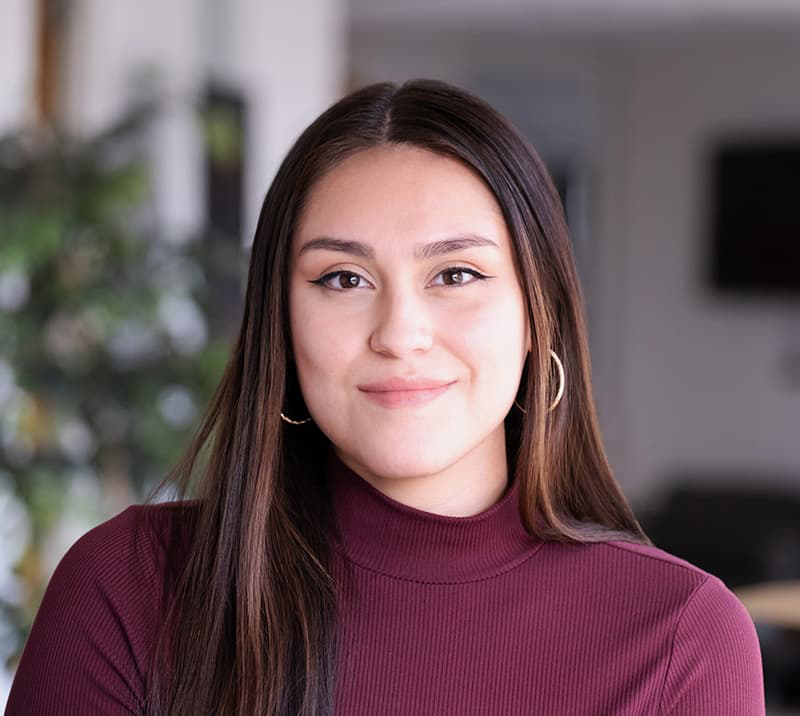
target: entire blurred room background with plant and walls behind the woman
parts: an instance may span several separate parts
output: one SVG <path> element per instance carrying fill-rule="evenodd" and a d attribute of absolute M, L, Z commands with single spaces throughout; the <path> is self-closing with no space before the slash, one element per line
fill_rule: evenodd
<path fill-rule="evenodd" d="M 420 76 L 548 164 L 617 477 L 800 713 L 796 0 L 0 0 L 0 705 L 66 549 L 185 447 L 283 154 Z"/>

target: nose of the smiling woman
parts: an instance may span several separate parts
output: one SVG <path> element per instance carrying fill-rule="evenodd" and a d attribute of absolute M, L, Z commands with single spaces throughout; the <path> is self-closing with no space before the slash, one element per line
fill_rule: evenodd
<path fill-rule="evenodd" d="M 431 317 L 424 299 L 412 291 L 387 292 L 376 302 L 375 325 L 369 345 L 376 353 L 403 357 L 429 350 L 433 343 Z"/>

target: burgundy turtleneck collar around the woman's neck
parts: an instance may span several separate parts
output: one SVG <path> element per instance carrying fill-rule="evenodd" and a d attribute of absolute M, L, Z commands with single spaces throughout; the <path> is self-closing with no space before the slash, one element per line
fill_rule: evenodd
<path fill-rule="evenodd" d="M 418 510 L 388 497 L 329 451 L 327 477 L 339 535 L 336 550 L 381 574 L 452 584 L 513 569 L 541 547 L 519 512 L 516 481 L 470 517 Z"/>

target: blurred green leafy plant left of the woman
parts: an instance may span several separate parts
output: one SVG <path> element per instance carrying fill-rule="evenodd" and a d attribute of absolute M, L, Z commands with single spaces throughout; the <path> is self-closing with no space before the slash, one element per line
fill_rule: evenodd
<path fill-rule="evenodd" d="M 245 257 L 203 232 L 180 243 L 159 235 L 145 141 L 153 110 L 88 139 L 0 140 L 7 666 L 63 551 L 164 475 L 228 356 L 214 293 L 243 274 Z"/>

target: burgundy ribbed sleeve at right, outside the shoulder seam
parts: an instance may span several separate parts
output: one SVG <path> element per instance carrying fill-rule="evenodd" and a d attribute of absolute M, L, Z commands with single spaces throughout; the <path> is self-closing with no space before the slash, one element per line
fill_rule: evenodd
<path fill-rule="evenodd" d="M 764 716 L 761 650 L 753 621 L 709 576 L 683 608 L 661 693 L 662 716 Z"/>

